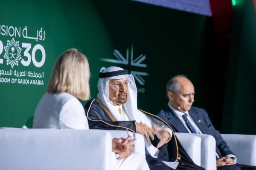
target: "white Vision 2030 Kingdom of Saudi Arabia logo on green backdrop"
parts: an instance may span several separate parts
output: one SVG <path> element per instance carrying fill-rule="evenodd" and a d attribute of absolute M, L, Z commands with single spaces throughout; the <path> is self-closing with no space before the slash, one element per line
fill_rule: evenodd
<path fill-rule="evenodd" d="M 43 31 L 43 28 L 37 30 L 35 37 L 29 37 L 27 26 L 22 30 L 20 27 L 0 25 L 0 36 L 12 37 L 11 40 L 7 40 L 6 46 L 3 46 L 3 42 L 0 40 L 0 56 L 4 49 L 5 53 L 3 58 L 6 59 L 6 65 L 12 67 L 10 70 L 0 70 L 0 83 L 44 85 L 44 81 L 41 79 L 44 78 L 44 72 L 26 69 L 22 71 L 13 70 L 14 66 L 19 66 L 19 62 L 25 67 L 29 66 L 31 63 L 38 68 L 44 65 L 46 53 L 41 44 L 32 46 L 31 43 L 19 43 L 19 41 L 15 41 L 14 39 L 14 37 L 23 37 L 25 39 L 35 40 L 36 42 L 38 42 L 38 40 L 44 41 L 45 31 Z M 22 48 L 25 49 L 23 50 Z M 36 59 L 37 51 L 40 51 L 42 54 L 39 56 L 39 61 Z M 0 58 L 0 64 L 3 63 L 3 59 Z M 13 76 L 17 78 L 13 78 Z"/>

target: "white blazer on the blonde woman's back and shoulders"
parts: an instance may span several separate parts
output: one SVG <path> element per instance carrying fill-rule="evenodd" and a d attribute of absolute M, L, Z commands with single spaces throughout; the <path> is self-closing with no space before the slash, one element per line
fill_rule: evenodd
<path fill-rule="evenodd" d="M 47 92 L 35 109 L 33 128 L 89 129 L 81 102 L 63 92 Z"/>

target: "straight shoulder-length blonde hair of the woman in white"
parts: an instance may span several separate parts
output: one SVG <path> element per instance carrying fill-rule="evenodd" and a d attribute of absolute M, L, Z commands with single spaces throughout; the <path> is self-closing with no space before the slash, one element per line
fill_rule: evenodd
<path fill-rule="evenodd" d="M 47 92 L 67 92 L 81 100 L 90 99 L 90 69 L 87 58 L 77 49 L 63 52 L 54 65 Z"/>

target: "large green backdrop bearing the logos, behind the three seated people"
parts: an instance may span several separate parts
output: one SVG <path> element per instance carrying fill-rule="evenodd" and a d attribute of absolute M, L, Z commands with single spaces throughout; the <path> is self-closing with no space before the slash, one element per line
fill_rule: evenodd
<path fill-rule="evenodd" d="M 75 47 L 89 58 L 92 98 L 98 93 L 102 67 L 119 66 L 136 77 L 138 107 L 156 114 L 168 102 L 167 81 L 185 74 L 195 86 L 194 106 L 206 109 L 215 127 L 221 128 L 223 102 L 216 95 L 216 86 L 221 85 L 212 80 L 221 73 L 212 63 L 216 42 L 211 17 L 131 0 L 6 0 L 0 11 L 0 70 L 4 71 L 0 75 L 0 127 L 31 127 L 56 59 Z M 12 35 L 12 27 L 20 29 L 21 35 Z M 23 30 L 27 35 L 22 35 Z M 14 52 L 10 43 L 7 50 L 12 38 L 16 42 Z M 31 49 L 26 52 L 29 44 Z M 12 67 L 7 62 L 15 63 L 18 47 L 20 60 L 16 59 L 18 65 Z M 11 70 L 12 75 L 8 75 Z M 24 72 L 24 76 L 17 76 L 17 72 Z M 5 78 L 10 83 L 5 83 Z M 15 78 L 26 79 L 29 84 L 12 83 Z M 43 81 L 44 85 L 30 84 L 31 80 Z"/>

